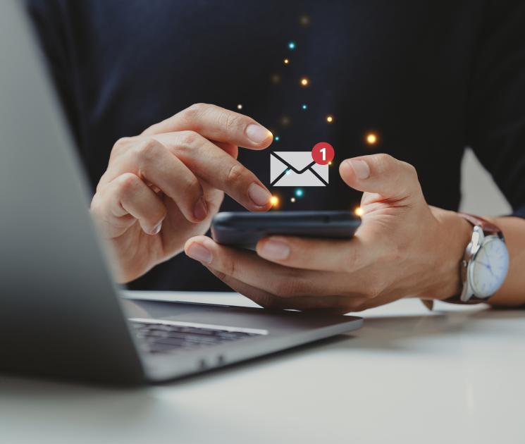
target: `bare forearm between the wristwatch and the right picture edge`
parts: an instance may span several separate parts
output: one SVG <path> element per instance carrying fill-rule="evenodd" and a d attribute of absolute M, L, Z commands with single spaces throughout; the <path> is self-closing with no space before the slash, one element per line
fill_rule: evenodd
<path fill-rule="evenodd" d="M 487 220 L 495 223 L 505 235 L 509 250 L 509 272 L 505 283 L 490 299 L 494 306 L 525 305 L 525 219 L 498 217 Z"/>

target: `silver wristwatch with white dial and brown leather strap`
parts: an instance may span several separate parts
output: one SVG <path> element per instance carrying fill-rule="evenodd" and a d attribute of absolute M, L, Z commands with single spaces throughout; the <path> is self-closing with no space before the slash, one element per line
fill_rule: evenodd
<path fill-rule="evenodd" d="M 497 226 L 471 214 L 458 213 L 474 229 L 461 261 L 463 290 L 447 299 L 458 304 L 487 302 L 497 292 L 509 270 L 509 252 Z"/>

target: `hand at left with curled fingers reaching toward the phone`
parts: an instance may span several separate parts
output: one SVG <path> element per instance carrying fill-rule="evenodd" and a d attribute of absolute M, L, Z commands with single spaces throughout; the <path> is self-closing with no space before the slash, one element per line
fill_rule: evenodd
<path fill-rule="evenodd" d="M 237 161 L 238 147 L 264 149 L 271 132 L 252 118 L 194 104 L 118 140 L 91 211 L 112 247 L 119 282 L 129 282 L 208 230 L 226 192 L 250 211 L 270 192 Z"/>

